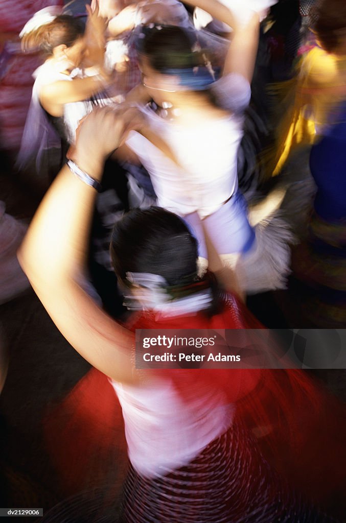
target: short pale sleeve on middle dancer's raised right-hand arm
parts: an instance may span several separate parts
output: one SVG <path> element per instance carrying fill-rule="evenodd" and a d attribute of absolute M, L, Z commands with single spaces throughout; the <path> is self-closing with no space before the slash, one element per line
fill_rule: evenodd
<path fill-rule="evenodd" d="M 213 94 L 222 109 L 241 113 L 250 103 L 251 87 L 249 81 L 241 74 L 230 73 L 222 76 L 213 87 Z"/>

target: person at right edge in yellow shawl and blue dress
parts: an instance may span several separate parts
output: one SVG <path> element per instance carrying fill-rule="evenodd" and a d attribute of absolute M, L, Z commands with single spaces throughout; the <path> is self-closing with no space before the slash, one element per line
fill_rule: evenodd
<path fill-rule="evenodd" d="M 316 133 L 317 192 L 293 269 L 311 327 L 338 328 L 346 324 L 346 4 L 317 2 L 312 29 L 317 45 L 303 60 L 298 94 Z"/>

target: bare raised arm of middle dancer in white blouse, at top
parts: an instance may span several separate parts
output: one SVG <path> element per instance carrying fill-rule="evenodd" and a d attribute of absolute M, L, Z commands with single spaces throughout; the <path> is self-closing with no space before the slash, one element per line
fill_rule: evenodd
<path fill-rule="evenodd" d="M 259 41 L 259 14 L 250 12 L 248 21 L 243 23 L 231 9 L 217 0 L 186 0 L 186 3 L 200 7 L 232 28 L 223 74 L 238 73 L 251 82 Z"/>

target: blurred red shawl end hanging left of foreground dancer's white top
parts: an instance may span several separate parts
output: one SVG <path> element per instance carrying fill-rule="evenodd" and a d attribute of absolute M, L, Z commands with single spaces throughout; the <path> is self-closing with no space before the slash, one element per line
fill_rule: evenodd
<path fill-rule="evenodd" d="M 122 483 L 127 451 L 121 407 L 102 372 L 91 369 L 44 422 L 61 491 L 73 495 Z"/>

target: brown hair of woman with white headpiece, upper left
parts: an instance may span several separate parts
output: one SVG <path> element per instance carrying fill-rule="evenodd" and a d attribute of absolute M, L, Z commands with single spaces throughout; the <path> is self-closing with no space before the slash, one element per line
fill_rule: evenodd
<path fill-rule="evenodd" d="M 21 40 L 24 51 L 38 49 L 52 54 L 54 47 L 64 44 L 71 47 L 84 34 L 82 22 L 69 15 L 59 15 L 49 24 L 30 31 Z"/>

